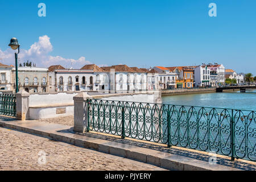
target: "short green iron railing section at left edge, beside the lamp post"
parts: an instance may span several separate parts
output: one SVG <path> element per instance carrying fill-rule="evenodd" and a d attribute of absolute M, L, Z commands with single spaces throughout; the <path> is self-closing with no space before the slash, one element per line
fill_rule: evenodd
<path fill-rule="evenodd" d="M 16 97 L 15 94 L 0 94 L 0 114 L 15 117 Z"/>

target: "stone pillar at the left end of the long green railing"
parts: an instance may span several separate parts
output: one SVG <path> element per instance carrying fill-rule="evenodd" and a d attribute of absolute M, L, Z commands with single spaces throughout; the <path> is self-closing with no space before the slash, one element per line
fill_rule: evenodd
<path fill-rule="evenodd" d="M 81 92 L 73 97 L 74 100 L 74 129 L 73 131 L 87 132 L 87 105 L 86 100 L 90 97 L 87 93 Z"/>

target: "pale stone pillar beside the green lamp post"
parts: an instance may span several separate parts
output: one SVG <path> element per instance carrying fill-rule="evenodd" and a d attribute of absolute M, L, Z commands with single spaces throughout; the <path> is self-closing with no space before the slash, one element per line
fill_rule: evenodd
<path fill-rule="evenodd" d="M 20 90 L 16 93 L 16 119 L 26 120 L 30 118 L 30 94 L 25 90 Z"/>

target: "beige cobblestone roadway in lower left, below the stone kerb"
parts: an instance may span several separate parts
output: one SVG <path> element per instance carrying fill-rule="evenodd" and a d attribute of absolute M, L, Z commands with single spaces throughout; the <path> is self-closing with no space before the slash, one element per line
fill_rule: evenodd
<path fill-rule="evenodd" d="M 1 127 L 0 135 L 0 170 L 164 170 Z"/>

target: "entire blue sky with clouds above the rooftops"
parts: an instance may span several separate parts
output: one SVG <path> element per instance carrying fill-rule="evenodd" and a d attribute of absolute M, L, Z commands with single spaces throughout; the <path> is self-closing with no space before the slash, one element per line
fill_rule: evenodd
<path fill-rule="evenodd" d="M 38 4 L 46 4 L 46 17 Z M 216 3 L 217 17 L 208 15 Z M 20 61 L 155 65 L 222 63 L 256 75 L 255 0 L 0 1 L 0 61 L 10 64 L 11 37 Z M 40 39 L 39 39 L 40 38 Z"/>

